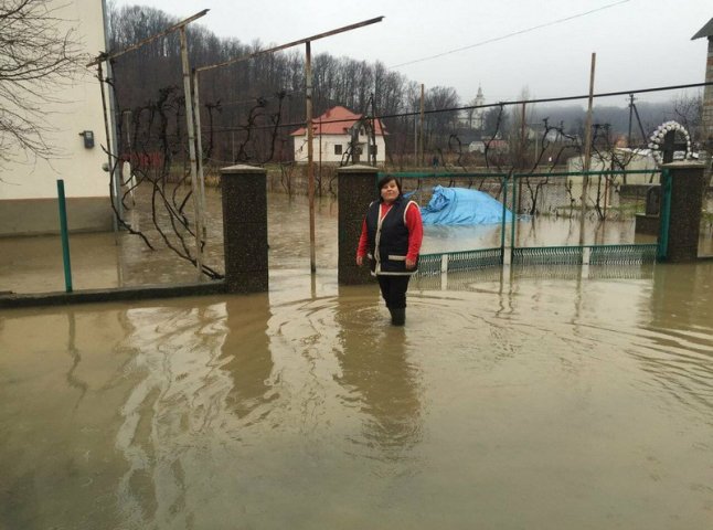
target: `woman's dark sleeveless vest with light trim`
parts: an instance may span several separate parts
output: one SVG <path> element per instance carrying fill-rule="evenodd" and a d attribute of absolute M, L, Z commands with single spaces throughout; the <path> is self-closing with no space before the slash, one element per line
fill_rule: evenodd
<path fill-rule="evenodd" d="M 406 209 L 412 202 L 398 195 L 381 223 L 379 222 L 381 201 L 374 201 L 369 205 L 366 234 L 372 274 L 401 276 L 416 272 L 416 268 L 406 269 L 408 227 L 405 220 Z"/>

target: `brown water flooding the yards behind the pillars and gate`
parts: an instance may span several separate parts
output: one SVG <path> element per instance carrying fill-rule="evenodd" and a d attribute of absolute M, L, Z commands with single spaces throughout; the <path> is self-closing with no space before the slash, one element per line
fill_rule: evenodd
<path fill-rule="evenodd" d="M 207 191 L 207 265 L 222 272 L 223 224 L 221 197 Z M 147 198 L 128 219 L 141 230 L 156 250 L 150 250 L 137 235 L 126 231 L 113 233 L 72 234 L 72 280 L 75 290 L 137 285 L 196 282 L 195 268 L 166 247 L 152 229 Z M 713 205 L 711 206 L 713 210 Z M 336 274 L 338 258 L 337 202 L 322 198 L 316 203 L 317 268 Z M 168 221 L 163 221 L 168 225 Z M 634 221 L 585 224 L 585 244 L 655 243 L 656 237 L 635 234 Z M 517 223 L 519 246 L 578 245 L 581 225 L 577 219 L 551 215 L 521 216 Z M 441 253 L 500 246 L 500 226 L 427 226 L 423 253 Z M 507 225 L 507 242 L 511 237 Z M 187 240 L 194 251 L 194 240 Z M 309 209 L 305 197 L 288 198 L 268 194 L 268 243 L 270 269 L 309 269 Z M 354 242 L 354 248 L 356 242 Z M 355 252 L 355 251 L 354 251 Z M 713 256 L 713 225 L 701 230 L 699 254 Z M 64 290 L 62 242 L 60 236 L 0 237 L 0 292 L 47 293 Z"/>

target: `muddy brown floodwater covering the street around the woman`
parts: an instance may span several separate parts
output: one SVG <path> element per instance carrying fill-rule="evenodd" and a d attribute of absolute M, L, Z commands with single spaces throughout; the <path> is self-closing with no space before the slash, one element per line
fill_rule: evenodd
<path fill-rule="evenodd" d="M 710 528 L 713 262 L 415 279 L 394 328 L 306 220 L 266 294 L 0 311 L 1 529 Z M 77 283 L 193 279 L 87 240 Z"/>

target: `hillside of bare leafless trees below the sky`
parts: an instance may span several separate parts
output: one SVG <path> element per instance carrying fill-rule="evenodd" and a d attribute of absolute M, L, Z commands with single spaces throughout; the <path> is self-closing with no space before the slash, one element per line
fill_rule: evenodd
<path fill-rule="evenodd" d="M 152 8 L 113 7 L 109 12 L 111 51 L 124 50 L 178 21 L 175 17 Z M 191 66 L 199 68 L 281 44 L 248 44 L 238 38 L 221 39 L 200 23 L 189 24 L 188 41 Z M 126 151 L 128 141 L 131 141 L 140 142 L 141 149 L 147 151 L 178 155 L 185 127 L 178 34 L 171 33 L 121 55 L 113 63 L 113 68 L 121 128 L 120 150 Z M 368 63 L 329 53 L 312 57 L 312 72 L 315 117 L 336 105 L 362 115 L 385 116 L 389 155 L 414 152 L 414 132 L 417 125 L 421 127 L 414 116 L 421 106 L 421 85 L 416 81 L 386 68 L 381 62 Z M 305 120 L 302 46 L 205 71 L 199 75 L 199 81 L 206 158 L 217 163 L 291 159 L 289 134 Z M 520 130 L 517 106 L 486 109 L 483 130 L 459 129 L 457 113 L 447 109 L 467 105 L 470 95 L 462 95 L 461 99 L 453 87 L 446 85 L 447 80 L 444 80 L 444 86 L 425 88 L 423 138 L 426 152 L 443 153 L 454 146 L 462 148 L 473 138 L 496 132 L 506 138 L 509 126 Z M 487 93 L 487 75 L 483 75 L 482 85 Z M 473 93 L 476 89 L 473 87 Z M 674 97 L 671 95 L 672 102 Z M 626 98 L 620 99 L 620 106 L 611 100 L 597 100 L 594 123 L 607 124 L 607 130 L 615 136 L 627 134 L 630 128 L 637 142 L 642 142 L 641 129 L 649 134 L 666 119 L 689 119 L 677 113 L 673 103 L 640 100 L 637 104 L 639 126 L 636 115 L 626 105 Z M 585 104 L 529 106 L 528 125 L 538 130 L 543 119 L 549 118 L 550 125 L 561 125 L 567 134 L 583 137 Z M 678 109 L 682 107 L 679 105 Z M 694 120 L 695 117 L 691 118 Z"/>

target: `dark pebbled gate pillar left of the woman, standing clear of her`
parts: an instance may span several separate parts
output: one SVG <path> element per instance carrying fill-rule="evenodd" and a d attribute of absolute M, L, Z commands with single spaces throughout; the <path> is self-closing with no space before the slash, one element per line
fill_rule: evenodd
<path fill-rule="evenodd" d="M 268 289 L 266 180 L 263 168 L 221 169 L 227 293 Z"/>

